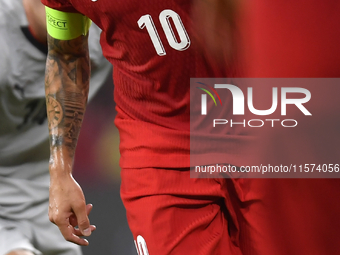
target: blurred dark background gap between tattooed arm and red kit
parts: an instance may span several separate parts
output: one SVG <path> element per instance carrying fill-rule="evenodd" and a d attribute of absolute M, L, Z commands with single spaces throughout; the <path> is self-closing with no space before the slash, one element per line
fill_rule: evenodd
<path fill-rule="evenodd" d="M 110 78 L 89 102 L 78 141 L 74 177 L 93 204 L 84 255 L 136 255 L 125 209 L 120 199 L 119 134 L 113 121 L 113 82 Z"/>

